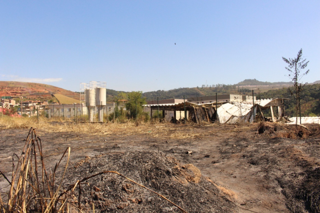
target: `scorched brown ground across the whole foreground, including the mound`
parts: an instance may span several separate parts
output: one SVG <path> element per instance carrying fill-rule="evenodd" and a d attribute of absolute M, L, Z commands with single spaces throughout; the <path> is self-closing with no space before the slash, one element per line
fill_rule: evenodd
<path fill-rule="evenodd" d="M 37 132 L 42 139 L 47 167 L 53 167 L 65 148 L 71 147 L 66 185 L 112 169 L 162 193 L 190 212 L 248 212 L 244 209 L 319 212 L 319 134 L 309 137 L 306 132 L 301 139 L 283 138 L 292 134 L 294 126 L 279 124 L 275 132 L 273 124 L 268 125 L 270 128 L 260 135 L 257 124 L 157 124 L 137 127 L 140 129 L 136 133 L 123 131 L 107 135 L 54 133 L 44 129 Z M 159 131 L 160 128 L 163 130 Z M 1 130 L 0 133 L 0 170 L 10 177 L 12 153 L 19 154 L 28 130 Z M 200 182 L 179 183 L 175 177 L 181 175 L 173 169 L 177 164 L 170 159 L 176 159 L 180 168 L 185 164 L 195 165 L 202 174 Z M 79 165 L 79 162 L 82 163 Z M 88 182 L 93 194 L 83 193 L 81 208 L 84 209 L 89 208 L 93 197 L 102 212 L 149 212 L 156 211 L 152 209 L 154 206 L 163 212 L 178 211 L 156 194 L 114 174 Z M 2 196 L 7 186 L 0 177 Z"/>

